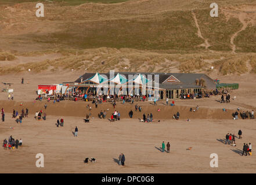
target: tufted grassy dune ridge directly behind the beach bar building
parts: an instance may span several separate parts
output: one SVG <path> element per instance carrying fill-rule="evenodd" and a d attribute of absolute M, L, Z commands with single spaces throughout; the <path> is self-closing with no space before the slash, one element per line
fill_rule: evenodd
<path fill-rule="evenodd" d="M 35 52 L 37 54 L 48 53 L 46 51 Z M 140 71 L 140 72 L 170 72 L 178 69 L 180 72 L 211 72 L 210 66 L 223 75 L 234 73 L 246 73 L 247 62 L 250 62 L 252 70 L 255 71 L 255 54 L 232 54 L 232 53 L 194 53 L 194 54 L 168 54 L 142 51 L 135 49 L 111 49 L 102 47 L 99 49 L 67 50 L 56 49 L 54 53 L 61 53 L 62 57 L 55 60 L 41 62 L 28 62 L 16 66 L 6 66 L 0 69 L 1 74 L 19 73 L 31 69 L 32 72 L 80 70 L 95 72 L 108 72 L 111 69 L 118 71 Z M 32 54 L 35 54 L 32 53 Z M 30 56 L 31 53 L 20 53 L 22 56 Z M 243 60 L 241 59 L 243 58 Z M 212 64 L 211 64 L 212 62 Z M 125 69 L 126 67 L 126 69 Z"/>

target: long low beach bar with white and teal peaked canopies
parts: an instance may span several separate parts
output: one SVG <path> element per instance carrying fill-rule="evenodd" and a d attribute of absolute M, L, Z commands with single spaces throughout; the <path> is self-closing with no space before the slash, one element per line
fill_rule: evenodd
<path fill-rule="evenodd" d="M 100 87 L 100 88 L 97 88 Z M 118 92 L 114 91 L 117 89 Z M 146 90 L 147 97 L 159 93 L 160 99 L 179 98 L 181 94 L 198 94 L 202 90 L 215 90 L 216 83 L 203 73 L 146 73 L 114 72 L 85 73 L 75 82 L 63 82 L 64 92 L 98 94 L 141 95 Z M 125 90 L 126 88 L 126 90 Z M 113 92 L 114 91 L 114 92 Z"/>

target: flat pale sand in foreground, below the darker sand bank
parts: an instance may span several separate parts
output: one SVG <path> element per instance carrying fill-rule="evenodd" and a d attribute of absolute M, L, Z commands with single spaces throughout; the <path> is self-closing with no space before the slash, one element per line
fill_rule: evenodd
<path fill-rule="evenodd" d="M 9 117 L 6 114 L 0 124 L 1 140 L 13 135 L 23 139 L 23 146 L 0 150 L 1 173 L 255 173 L 255 155 L 239 154 L 244 142 L 255 145 L 255 120 L 147 124 L 136 119 L 114 123 L 93 119 L 85 124 L 81 117 L 64 117 L 64 127 L 56 127 L 59 116 L 35 121 L 30 115 L 21 125 Z M 72 133 L 76 125 L 77 138 Z M 237 147 L 218 140 L 239 129 L 243 139 L 236 139 Z M 170 153 L 160 151 L 163 140 L 171 143 Z M 115 162 L 120 152 L 125 154 L 125 166 Z M 44 168 L 35 166 L 37 153 L 44 154 Z M 218 168 L 210 167 L 211 153 L 218 154 Z M 96 163 L 85 165 L 85 157 L 96 158 Z"/>

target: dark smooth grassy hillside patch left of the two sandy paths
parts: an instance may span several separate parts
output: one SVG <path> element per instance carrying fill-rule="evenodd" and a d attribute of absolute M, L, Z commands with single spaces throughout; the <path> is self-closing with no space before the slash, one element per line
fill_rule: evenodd
<path fill-rule="evenodd" d="M 66 29 L 33 35 L 34 42 L 78 49 L 98 47 L 146 50 L 194 50 L 203 40 L 196 35 L 190 12 L 169 12 L 157 18 L 102 20 L 100 23 L 66 23 Z M 31 36 L 31 35 L 30 35 Z"/>

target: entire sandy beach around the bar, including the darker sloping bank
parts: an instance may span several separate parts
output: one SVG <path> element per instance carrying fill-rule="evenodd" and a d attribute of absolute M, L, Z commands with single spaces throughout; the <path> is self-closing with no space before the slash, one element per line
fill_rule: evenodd
<path fill-rule="evenodd" d="M 25 84 L 20 84 L 21 77 Z M 116 110 L 121 113 L 121 121 L 111 123 L 113 112 L 111 103 L 92 106 L 89 123 L 84 123 L 85 115 L 90 113 L 86 105 L 91 102 L 59 103 L 36 101 L 36 84 L 49 83 L 51 77 L 35 77 L 26 83 L 27 76 L 2 76 L 13 82 L 15 101 L 6 101 L 6 92 L 1 92 L 0 106 L 5 109 L 5 122 L 0 123 L 0 139 L 23 139 L 23 146 L 14 150 L 0 150 L 1 173 L 255 173 L 255 155 L 241 157 L 243 143 L 256 143 L 255 120 L 232 120 L 232 113 L 237 107 L 251 110 L 255 99 L 248 99 L 254 92 L 244 94 L 248 86 L 255 85 L 243 82 L 249 77 L 241 77 L 239 90 L 233 90 L 231 97 L 236 100 L 230 103 L 219 103 L 219 97 L 196 100 L 177 100 L 175 106 L 166 106 L 165 102 L 135 102 L 142 106 L 142 112 L 136 112 L 134 105 L 117 102 Z M 59 76 L 59 79 L 60 80 Z M 58 76 L 56 75 L 56 78 Z M 64 79 L 64 77 L 63 77 Z M 226 77 L 228 80 L 228 77 Z M 232 80 L 232 76 L 229 77 Z M 64 79 L 65 80 L 65 79 Z M 236 81 L 236 82 L 237 82 Z M 57 80 L 56 80 L 57 82 Z M 2 85 L 3 86 L 3 85 Z M 254 90 L 252 90 L 254 91 Z M 34 92 L 34 93 L 33 93 Z M 24 99 L 23 99 L 24 98 Z M 244 101 L 247 99 L 247 101 Z M 20 106 L 20 102 L 23 105 Z M 190 107 L 199 105 L 199 110 L 190 112 Z M 28 118 L 17 124 L 12 119 L 12 110 L 29 109 Z M 99 119 L 100 110 L 109 108 L 106 119 Z M 160 109 L 160 112 L 157 109 Z M 226 108 L 228 112 L 223 112 Z M 128 118 L 129 110 L 134 111 L 134 118 Z M 34 119 L 35 111 L 47 113 L 46 120 Z M 172 114 L 179 111 L 180 120 L 172 120 Z M 140 123 L 143 113 L 153 113 L 153 123 Z M 64 118 L 64 127 L 56 127 L 56 120 Z M 186 121 L 190 119 L 191 121 Z M 160 122 L 158 122 L 160 120 Z M 78 126 L 78 137 L 74 137 L 75 126 Z M 241 129 L 243 139 L 236 139 L 237 146 L 225 145 L 227 133 L 236 134 Z M 171 143 L 171 152 L 162 153 L 161 143 Z M 187 150 L 192 147 L 192 150 Z M 254 148 L 254 147 L 253 147 Z M 253 150 L 254 151 L 254 150 Z M 44 154 L 45 167 L 37 168 L 37 153 Z M 117 164 L 120 153 L 125 154 L 125 166 Z M 218 168 L 210 167 L 210 154 L 218 154 Z M 96 158 L 96 163 L 84 164 L 86 157 Z"/>

